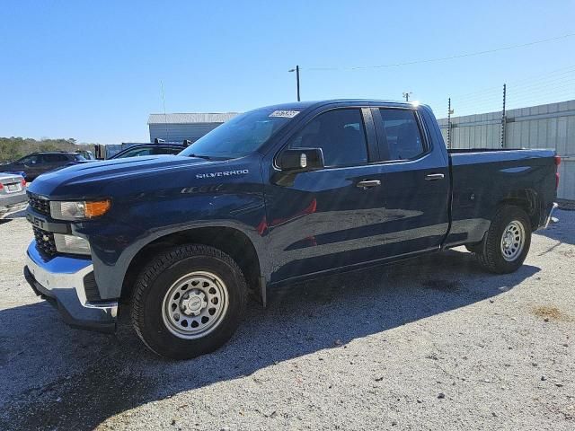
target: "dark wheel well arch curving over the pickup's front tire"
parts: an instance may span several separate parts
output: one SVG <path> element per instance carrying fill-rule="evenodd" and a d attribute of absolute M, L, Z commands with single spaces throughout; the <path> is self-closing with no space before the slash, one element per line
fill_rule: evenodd
<path fill-rule="evenodd" d="M 234 228 L 229 227 L 200 227 L 172 233 L 147 244 L 129 264 L 120 299 L 127 302 L 131 296 L 132 288 L 142 268 L 158 253 L 181 244 L 210 245 L 228 254 L 242 269 L 243 277 L 248 288 L 260 295 L 260 260 L 252 241 Z"/>

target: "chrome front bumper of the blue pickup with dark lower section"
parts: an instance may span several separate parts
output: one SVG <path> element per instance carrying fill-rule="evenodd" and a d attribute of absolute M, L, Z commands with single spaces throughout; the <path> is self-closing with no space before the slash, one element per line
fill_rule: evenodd
<path fill-rule="evenodd" d="M 31 242 L 24 277 L 36 295 L 54 305 L 73 328 L 111 333 L 116 330 L 118 303 L 86 300 L 84 277 L 93 272 L 92 261 L 57 256 L 45 260 Z"/>

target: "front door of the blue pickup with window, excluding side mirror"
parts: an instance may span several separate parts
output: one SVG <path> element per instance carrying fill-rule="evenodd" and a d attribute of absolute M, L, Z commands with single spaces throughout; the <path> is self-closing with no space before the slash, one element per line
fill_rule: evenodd
<path fill-rule="evenodd" d="M 322 148 L 325 168 L 270 172 L 267 219 L 260 228 L 270 232 L 271 281 L 377 259 L 384 245 L 385 196 L 381 167 L 373 163 L 377 149 L 369 108 L 323 111 L 285 147 Z"/>

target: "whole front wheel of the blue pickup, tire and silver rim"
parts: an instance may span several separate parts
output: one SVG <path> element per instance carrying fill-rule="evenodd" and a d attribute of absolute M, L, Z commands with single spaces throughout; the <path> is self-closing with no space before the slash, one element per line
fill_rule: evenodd
<path fill-rule="evenodd" d="M 221 347 L 243 315 L 247 288 L 223 251 L 183 245 L 150 261 L 137 279 L 131 318 L 156 354 L 188 359 Z"/>

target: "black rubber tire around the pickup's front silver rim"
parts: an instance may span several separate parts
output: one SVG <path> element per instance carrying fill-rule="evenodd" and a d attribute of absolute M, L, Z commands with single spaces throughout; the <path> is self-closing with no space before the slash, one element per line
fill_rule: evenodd
<path fill-rule="evenodd" d="M 223 282 L 227 307 L 205 336 L 185 339 L 170 329 L 169 318 L 163 314 L 164 298 L 173 292 L 178 280 L 193 271 L 207 271 Z M 243 316 L 246 293 L 242 270 L 226 253 L 205 245 L 181 245 L 152 259 L 137 277 L 131 303 L 132 325 L 155 354 L 189 359 L 216 350 L 232 337 Z"/>

